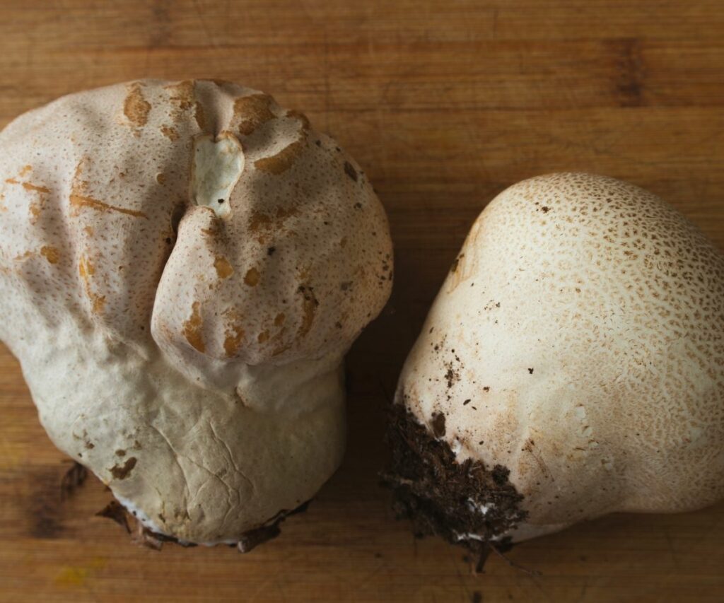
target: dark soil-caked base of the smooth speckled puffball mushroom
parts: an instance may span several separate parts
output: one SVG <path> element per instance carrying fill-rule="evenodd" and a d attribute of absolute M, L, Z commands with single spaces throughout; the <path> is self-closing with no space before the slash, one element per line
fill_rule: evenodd
<path fill-rule="evenodd" d="M 434 423 L 437 418 L 445 424 L 442 415 Z M 479 554 L 490 546 L 510 547 L 507 534 L 528 515 L 523 496 L 508 481 L 510 471 L 502 465 L 487 469 L 471 458 L 458 463 L 447 442 L 403 404 L 392 405 L 389 425 L 392 462 L 384 481 L 394 492 L 397 517 L 412 520 L 416 536 L 442 536 Z"/>

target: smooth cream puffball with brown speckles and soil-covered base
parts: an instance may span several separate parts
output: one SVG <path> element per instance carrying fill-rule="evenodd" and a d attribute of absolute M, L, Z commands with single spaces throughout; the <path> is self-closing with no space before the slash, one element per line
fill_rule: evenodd
<path fill-rule="evenodd" d="M 397 510 L 473 549 L 710 505 L 724 495 L 724 257 L 626 182 L 513 185 L 473 224 L 393 409 Z"/>

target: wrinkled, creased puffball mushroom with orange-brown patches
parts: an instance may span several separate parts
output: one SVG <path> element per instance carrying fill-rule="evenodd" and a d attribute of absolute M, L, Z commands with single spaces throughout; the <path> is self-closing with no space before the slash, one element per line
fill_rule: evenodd
<path fill-rule="evenodd" d="M 208 80 L 65 96 L 0 148 L 0 336 L 56 446 L 179 541 L 310 499 L 342 457 L 343 356 L 392 286 L 358 164 Z"/>

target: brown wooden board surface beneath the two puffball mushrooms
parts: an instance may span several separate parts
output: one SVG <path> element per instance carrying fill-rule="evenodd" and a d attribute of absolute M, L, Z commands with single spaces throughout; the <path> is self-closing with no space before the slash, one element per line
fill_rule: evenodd
<path fill-rule="evenodd" d="M 526 542 L 473 576 L 416 541 L 378 486 L 382 408 L 468 227 L 516 180 L 563 169 L 631 180 L 724 247 L 721 0 L 3 0 L 0 122 L 143 76 L 218 77 L 305 111 L 387 208 L 395 292 L 348 359 L 348 454 L 308 513 L 241 555 L 153 552 L 93 517 L 89 481 L 38 424 L 0 348 L 0 599 L 7 601 L 724 600 L 724 505 L 615 515 Z M 1 292 L 0 292 L 1 295 Z M 1 319 L 1 311 L 0 311 Z"/>

